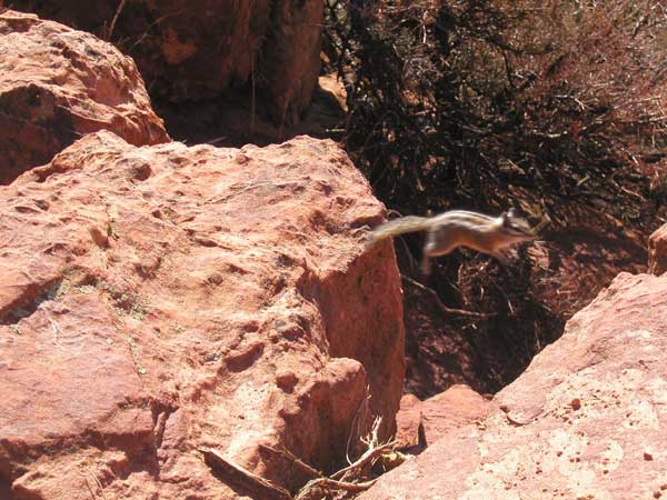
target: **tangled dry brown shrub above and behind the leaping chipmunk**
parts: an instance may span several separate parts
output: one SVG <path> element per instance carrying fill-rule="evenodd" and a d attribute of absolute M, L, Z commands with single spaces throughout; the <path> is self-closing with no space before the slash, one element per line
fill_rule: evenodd
<path fill-rule="evenodd" d="M 667 163 L 665 16 L 650 1 L 329 1 L 348 150 L 400 211 L 529 191 L 536 217 L 567 219 L 567 198 L 645 224 Z"/>

